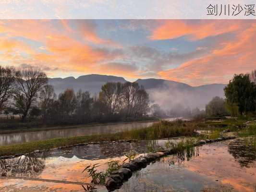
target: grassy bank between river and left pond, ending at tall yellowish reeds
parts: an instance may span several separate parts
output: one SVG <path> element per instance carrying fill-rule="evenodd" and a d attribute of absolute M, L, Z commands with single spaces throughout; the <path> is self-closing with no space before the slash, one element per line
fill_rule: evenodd
<path fill-rule="evenodd" d="M 86 135 L 69 138 L 55 138 L 24 144 L 0 146 L 0 156 L 24 154 L 35 150 L 50 149 L 71 144 L 100 141 L 116 141 L 123 139 L 161 139 L 176 136 L 192 136 L 196 123 L 177 121 L 160 121 L 148 128 L 131 130 L 114 134 Z"/>

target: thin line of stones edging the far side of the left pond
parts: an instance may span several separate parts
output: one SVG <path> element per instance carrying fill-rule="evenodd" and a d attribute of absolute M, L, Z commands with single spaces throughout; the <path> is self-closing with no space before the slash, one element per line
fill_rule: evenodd
<path fill-rule="evenodd" d="M 42 153 L 42 152 L 50 151 L 50 150 L 58 150 L 58 149 L 64 149 L 64 148 L 75 147 L 75 146 L 83 146 L 83 145 L 88 145 L 88 144 L 104 144 L 104 143 L 116 143 L 116 142 L 119 142 L 119 143 L 122 143 L 122 142 L 132 143 L 132 142 L 137 142 L 137 140 L 130 139 L 130 140 L 102 141 L 102 142 L 88 142 L 88 143 L 81 143 L 81 144 L 72 144 L 72 145 L 61 146 L 61 147 L 52 148 L 52 149 L 35 150 L 35 151 L 31 152 L 31 153 L 26 153 L 26 154 L 15 154 L 15 155 L 12 155 L 12 156 L 0 156 L 0 159 L 14 158 L 14 157 L 22 156 L 22 155 L 29 155 L 29 154 L 34 154 L 34 153 Z"/>

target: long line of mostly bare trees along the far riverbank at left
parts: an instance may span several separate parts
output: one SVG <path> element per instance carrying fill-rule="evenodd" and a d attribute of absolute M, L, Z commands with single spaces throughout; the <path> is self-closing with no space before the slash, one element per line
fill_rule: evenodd
<path fill-rule="evenodd" d="M 0 66 L 0 110 L 46 124 L 138 119 L 149 111 L 149 96 L 136 82 L 108 82 L 98 96 L 73 89 L 57 96 L 45 72 Z"/>

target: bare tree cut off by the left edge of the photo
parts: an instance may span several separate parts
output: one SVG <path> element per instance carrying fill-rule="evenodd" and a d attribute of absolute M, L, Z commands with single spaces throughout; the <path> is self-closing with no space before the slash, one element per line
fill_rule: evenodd
<path fill-rule="evenodd" d="M 15 91 L 15 69 L 0 66 L 0 109 Z"/>

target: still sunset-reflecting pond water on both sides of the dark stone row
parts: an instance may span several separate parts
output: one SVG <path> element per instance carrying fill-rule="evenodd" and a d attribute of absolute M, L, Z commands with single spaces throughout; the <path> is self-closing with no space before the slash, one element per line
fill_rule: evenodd
<path fill-rule="evenodd" d="M 157 142 L 162 145 L 164 140 Z M 0 191 L 85 192 L 85 185 L 56 184 L 51 180 L 88 183 L 91 178 L 82 173 L 87 165 L 99 163 L 98 171 L 105 171 L 107 162 L 122 162 L 125 153 L 131 150 L 143 155 L 148 142 L 89 144 L 1 160 L 2 176 L 48 181 L 0 178 Z M 199 146 L 196 155 L 189 159 L 163 157 L 135 172 L 115 192 L 254 192 L 255 189 L 256 150 L 236 139 Z M 107 190 L 96 186 L 94 192 Z"/>

